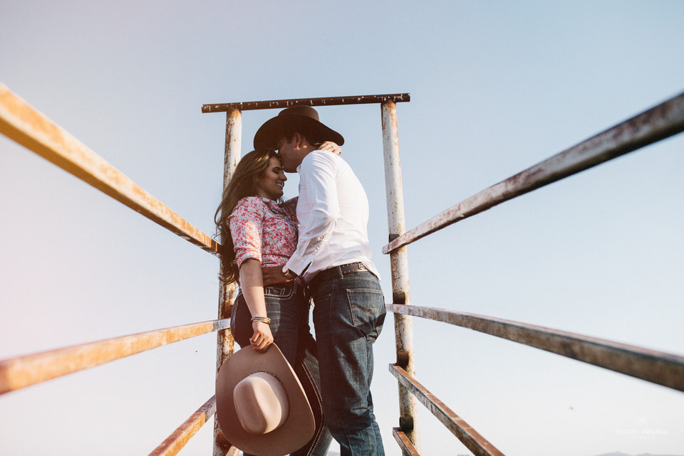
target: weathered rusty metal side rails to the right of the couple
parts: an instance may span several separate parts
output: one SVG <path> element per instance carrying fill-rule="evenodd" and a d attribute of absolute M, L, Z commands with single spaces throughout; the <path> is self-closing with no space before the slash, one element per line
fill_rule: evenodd
<path fill-rule="evenodd" d="M 682 131 L 684 131 L 684 93 L 476 193 L 405 233 L 396 233 L 393 238 L 390 238 L 390 243 L 383 248 L 383 253 L 393 255 L 415 240 L 486 211 L 499 203 L 522 196 L 529 191 Z M 393 269 L 393 283 L 395 280 L 408 282 L 408 279 L 404 277 L 395 277 L 394 272 Z M 395 304 L 388 304 L 387 308 L 395 314 L 413 315 L 473 329 L 684 391 L 683 356 L 495 317 L 403 304 L 405 302 L 395 297 Z M 420 402 L 474 455 L 502 455 L 502 452 L 447 408 L 430 391 L 427 391 L 415 376 L 405 370 L 404 366 L 410 366 L 410 359 L 413 359 L 412 354 L 400 354 L 398 362 L 390 365 L 390 372 L 398 379 L 400 385 L 419 398 Z M 406 438 L 405 435 L 412 430 L 410 420 L 402 420 L 400 423 L 405 423 L 405 428 L 401 426 L 394 430 L 395 440 L 405 455 L 418 455 L 420 449 L 412 445 L 412 440 Z"/>

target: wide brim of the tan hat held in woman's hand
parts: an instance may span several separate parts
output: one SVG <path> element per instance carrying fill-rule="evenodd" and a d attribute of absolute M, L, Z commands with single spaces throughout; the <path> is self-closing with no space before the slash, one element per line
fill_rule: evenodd
<path fill-rule="evenodd" d="M 280 428 L 267 434 L 250 434 L 240 424 L 233 390 L 243 378 L 266 371 L 281 381 L 289 401 L 289 415 Z M 264 353 L 247 346 L 229 357 L 219 368 L 216 380 L 216 415 L 227 440 L 243 452 L 260 456 L 284 456 L 306 445 L 314 437 L 314 413 L 294 369 L 276 344 Z"/>

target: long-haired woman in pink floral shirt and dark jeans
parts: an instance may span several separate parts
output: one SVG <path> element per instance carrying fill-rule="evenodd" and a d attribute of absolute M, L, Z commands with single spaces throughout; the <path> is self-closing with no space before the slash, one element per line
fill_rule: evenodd
<path fill-rule="evenodd" d="M 275 343 L 309 397 L 316 433 L 293 454 L 326 455 L 332 437 L 323 422 L 308 299 L 299 282 L 264 287 L 261 276 L 261 267 L 284 265 L 296 249 L 296 198 L 282 203 L 286 180 L 274 152 L 252 151 L 239 161 L 214 217 L 222 239 L 222 280 L 240 285 L 231 316 L 237 343 L 258 351 Z"/>

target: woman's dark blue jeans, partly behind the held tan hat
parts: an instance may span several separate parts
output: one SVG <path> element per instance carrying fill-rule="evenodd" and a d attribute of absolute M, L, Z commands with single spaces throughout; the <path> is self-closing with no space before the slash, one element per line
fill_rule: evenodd
<path fill-rule="evenodd" d="M 292 455 L 325 456 L 332 436 L 323 418 L 316 341 L 309 327 L 309 300 L 298 284 L 294 287 L 264 287 L 264 297 L 274 343 L 299 377 L 316 422 L 314 437 Z M 240 293 L 233 305 L 230 330 L 241 347 L 249 346 L 249 338 L 254 334 L 251 319 L 252 314 Z"/>

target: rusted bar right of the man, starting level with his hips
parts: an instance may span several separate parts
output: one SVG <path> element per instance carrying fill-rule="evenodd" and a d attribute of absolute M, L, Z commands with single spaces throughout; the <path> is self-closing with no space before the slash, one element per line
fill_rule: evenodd
<path fill-rule="evenodd" d="M 467 312 L 397 304 L 386 307 L 390 312 L 473 329 L 684 391 L 684 356 Z"/>

